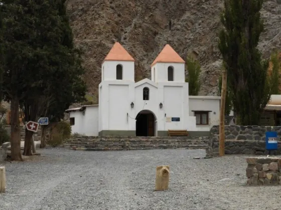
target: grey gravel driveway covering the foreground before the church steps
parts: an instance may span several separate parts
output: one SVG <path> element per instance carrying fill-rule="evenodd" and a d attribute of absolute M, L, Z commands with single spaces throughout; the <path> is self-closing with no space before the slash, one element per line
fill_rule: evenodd
<path fill-rule="evenodd" d="M 0 209 L 280 209 L 279 186 L 245 185 L 243 156 L 193 159 L 205 151 L 38 150 L 6 162 Z M 168 191 L 154 191 L 156 166 L 171 167 Z M 1 163 L 0 165 L 3 165 Z"/>

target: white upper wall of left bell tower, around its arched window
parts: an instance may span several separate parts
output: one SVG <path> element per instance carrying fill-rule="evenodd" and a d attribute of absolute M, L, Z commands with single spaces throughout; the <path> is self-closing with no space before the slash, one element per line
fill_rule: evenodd
<path fill-rule="evenodd" d="M 122 80 L 134 81 L 134 61 L 115 61 L 115 60 L 106 60 L 102 63 L 101 66 L 102 80 L 116 80 L 116 66 L 118 64 L 121 64 L 123 66 Z"/>

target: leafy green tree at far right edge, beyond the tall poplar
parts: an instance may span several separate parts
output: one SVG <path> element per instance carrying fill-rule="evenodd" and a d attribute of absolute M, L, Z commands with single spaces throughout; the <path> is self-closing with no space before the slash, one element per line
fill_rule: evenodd
<path fill-rule="evenodd" d="M 269 76 L 270 93 L 280 94 L 280 62 L 278 59 L 278 52 L 271 54 L 270 61 L 272 63 L 272 72 Z"/>

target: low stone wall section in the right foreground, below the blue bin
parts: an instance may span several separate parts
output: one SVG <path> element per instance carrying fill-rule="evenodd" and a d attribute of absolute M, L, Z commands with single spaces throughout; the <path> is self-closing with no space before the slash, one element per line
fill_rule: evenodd
<path fill-rule="evenodd" d="M 247 157 L 248 185 L 281 184 L 281 157 Z"/>

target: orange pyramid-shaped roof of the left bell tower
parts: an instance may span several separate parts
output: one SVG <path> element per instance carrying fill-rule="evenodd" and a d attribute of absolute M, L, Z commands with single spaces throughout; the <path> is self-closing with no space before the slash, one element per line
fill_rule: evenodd
<path fill-rule="evenodd" d="M 123 60 L 123 61 L 134 61 L 132 56 L 125 50 L 125 48 L 119 43 L 115 42 L 106 57 L 105 60 Z"/>

